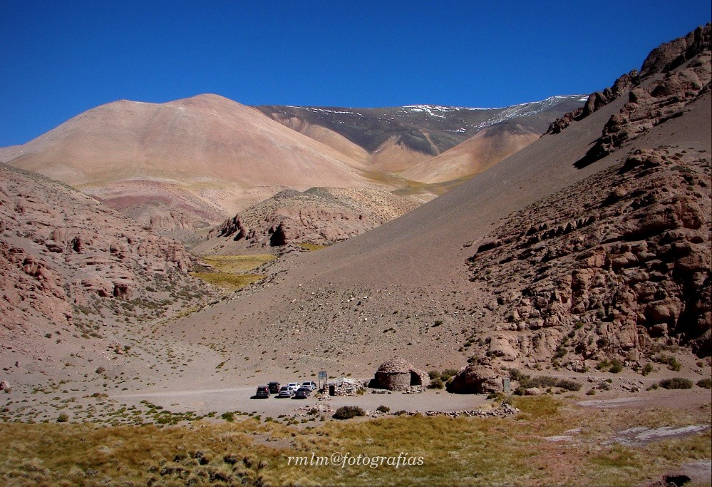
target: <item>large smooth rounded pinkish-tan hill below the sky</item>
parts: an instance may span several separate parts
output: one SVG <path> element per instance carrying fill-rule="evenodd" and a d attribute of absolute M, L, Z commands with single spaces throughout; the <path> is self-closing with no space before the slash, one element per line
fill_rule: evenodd
<path fill-rule="evenodd" d="M 80 188 L 147 226 L 153 216 L 183 228 L 217 224 L 280 187 L 370 184 L 355 160 L 215 95 L 108 103 L 12 149 L 11 165 Z"/>

